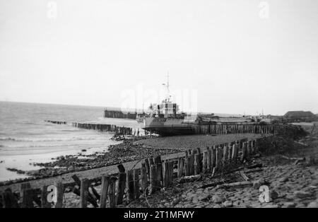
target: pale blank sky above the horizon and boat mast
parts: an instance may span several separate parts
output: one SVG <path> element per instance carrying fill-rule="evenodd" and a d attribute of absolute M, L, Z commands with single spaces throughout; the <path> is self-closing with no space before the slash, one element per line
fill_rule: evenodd
<path fill-rule="evenodd" d="M 141 108 L 169 73 L 184 111 L 318 113 L 317 24 L 317 0 L 0 0 L 0 100 Z"/>

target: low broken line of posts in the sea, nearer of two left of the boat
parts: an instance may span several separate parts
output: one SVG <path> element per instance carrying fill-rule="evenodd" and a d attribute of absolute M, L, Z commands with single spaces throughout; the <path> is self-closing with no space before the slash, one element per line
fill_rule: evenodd
<path fill-rule="evenodd" d="M 53 121 L 45 120 L 45 122 L 50 122 L 53 124 L 68 124 L 64 121 Z M 71 122 L 73 127 L 81 129 L 93 129 L 100 132 L 114 132 L 115 134 L 131 135 L 133 130 L 131 127 L 118 127 L 114 124 L 97 124 L 97 123 L 80 123 L 80 122 Z"/>

